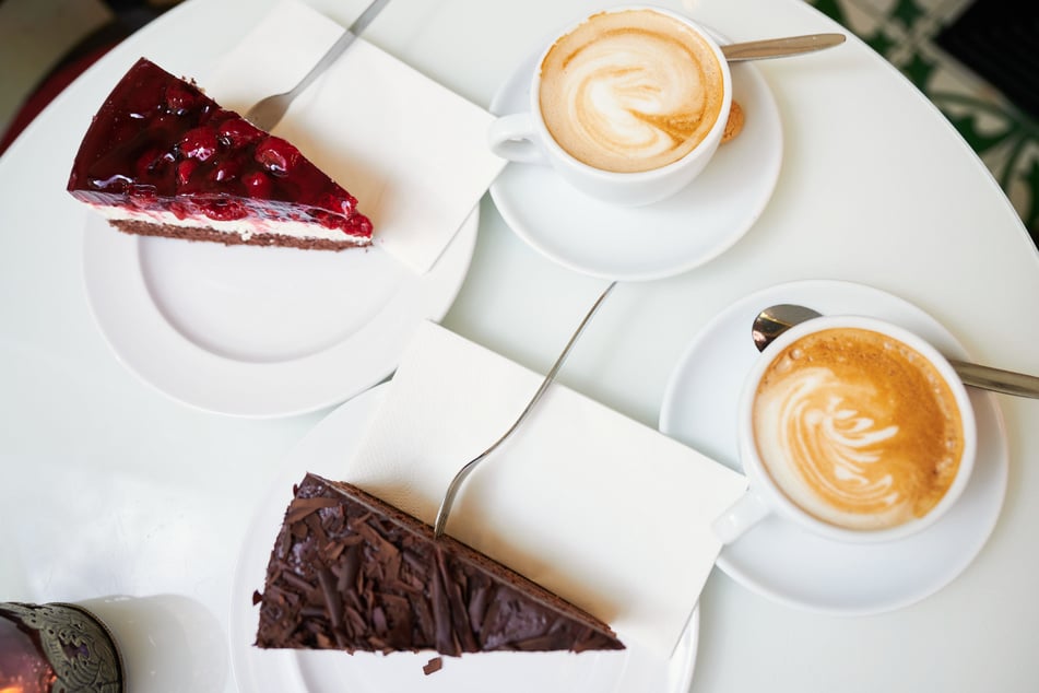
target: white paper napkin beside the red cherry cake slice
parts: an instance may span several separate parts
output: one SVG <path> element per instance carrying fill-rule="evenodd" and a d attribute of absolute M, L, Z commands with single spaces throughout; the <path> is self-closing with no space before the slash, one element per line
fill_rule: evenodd
<path fill-rule="evenodd" d="M 245 111 L 292 89 L 342 32 L 310 7 L 283 2 L 200 85 L 225 108 Z M 376 244 L 424 273 L 505 165 L 487 149 L 491 120 L 357 39 L 293 102 L 274 132 L 358 199 Z"/>

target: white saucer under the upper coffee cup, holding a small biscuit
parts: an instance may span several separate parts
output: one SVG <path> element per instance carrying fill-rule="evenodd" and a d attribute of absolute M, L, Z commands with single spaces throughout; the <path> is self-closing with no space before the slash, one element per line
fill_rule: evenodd
<path fill-rule="evenodd" d="M 527 110 L 538 55 L 501 85 L 492 113 Z M 649 207 L 617 207 L 578 192 L 547 166 L 511 163 L 491 185 L 503 219 L 550 259 L 605 279 L 671 277 L 728 250 L 760 216 L 782 162 L 782 125 L 765 79 L 754 66 L 730 67 L 746 125 L 688 188 Z"/>

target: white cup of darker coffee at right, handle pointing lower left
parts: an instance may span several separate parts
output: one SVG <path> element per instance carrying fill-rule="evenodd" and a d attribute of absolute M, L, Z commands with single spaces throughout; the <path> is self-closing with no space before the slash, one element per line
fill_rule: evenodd
<path fill-rule="evenodd" d="M 975 465 L 970 398 L 948 361 L 896 325 L 826 316 L 755 361 L 737 410 L 746 494 L 723 543 L 769 516 L 827 539 L 894 541 L 937 521 Z"/>

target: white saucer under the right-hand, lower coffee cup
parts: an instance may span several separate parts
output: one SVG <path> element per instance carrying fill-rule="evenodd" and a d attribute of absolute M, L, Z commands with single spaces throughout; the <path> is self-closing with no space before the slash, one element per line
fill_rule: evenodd
<path fill-rule="evenodd" d="M 886 319 L 917 332 L 946 355 L 966 357 L 941 324 L 890 294 L 837 281 L 780 284 L 725 308 L 693 340 L 669 380 L 661 432 L 741 468 L 736 404 L 743 378 L 757 355 L 751 322 L 759 310 L 777 303 Z M 996 399 L 971 389 L 970 401 L 978 423 L 975 470 L 957 504 L 930 528 L 890 543 L 849 544 L 774 516 L 725 547 L 718 566 L 776 601 L 843 615 L 893 611 L 942 589 L 981 551 L 1006 493 L 1010 460 Z"/>

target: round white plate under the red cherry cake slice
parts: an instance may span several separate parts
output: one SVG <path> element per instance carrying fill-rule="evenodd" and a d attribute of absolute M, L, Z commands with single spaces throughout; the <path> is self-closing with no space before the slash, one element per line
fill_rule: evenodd
<path fill-rule="evenodd" d="M 239 416 L 331 407 L 390 375 L 422 320 L 454 301 L 473 210 L 416 274 L 378 246 L 340 252 L 130 236 L 91 214 L 83 273 L 119 360 L 186 404 Z"/>

